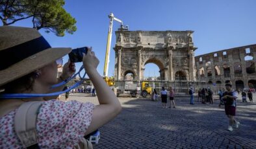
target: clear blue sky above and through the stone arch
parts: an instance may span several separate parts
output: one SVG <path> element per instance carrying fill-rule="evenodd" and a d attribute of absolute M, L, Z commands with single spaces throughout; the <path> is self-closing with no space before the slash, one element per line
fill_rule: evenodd
<path fill-rule="evenodd" d="M 40 32 L 52 47 L 92 46 L 100 60 L 98 71 L 103 75 L 108 15 L 113 12 L 129 30 L 194 30 L 196 56 L 208 52 L 255 44 L 255 0 L 130 0 L 84 1 L 66 0 L 66 11 L 77 20 L 77 31 L 60 38 Z M 32 27 L 31 21 L 15 25 Z M 112 47 L 116 41 L 114 31 Z M 114 50 L 110 53 L 109 76 L 114 73 Z M 65 58 L 67 59 L 67 58 Z M 147 64 L 144 75 L 159 76 L 155 64 Z"/>

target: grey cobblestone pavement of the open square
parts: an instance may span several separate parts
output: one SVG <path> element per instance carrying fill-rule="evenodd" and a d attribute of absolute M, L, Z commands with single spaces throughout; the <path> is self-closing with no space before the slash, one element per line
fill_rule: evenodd
<path fill-rule="evenodd" d="M 84 96 L 70 98 L 98 104 L 97 97 Z M 238 100 L 236 118 L 241 124 L 233 132 L 227 130 L 228 120 L 218 100 L 190 105 L 188 98 L 177 98 L 175 109 L 163 109 L 160 101 L 120 97 L 122 112 L 99 128 L 101 139 L 94 148 L 256 148 L 255 97 L 253 103 Z"/>

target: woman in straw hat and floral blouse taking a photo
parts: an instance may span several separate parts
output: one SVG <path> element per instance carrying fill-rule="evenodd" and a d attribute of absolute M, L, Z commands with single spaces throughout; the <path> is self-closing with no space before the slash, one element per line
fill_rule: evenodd
<path fill-rule="evenodd" d="M 64 86 L 50 89 L 75 72 L 73 63 L 66 63 L 57 78 L 60 58 L 70 48 L 51 48 L 36 30 L 25 27 L 0 27 L 0 97 L 5 94 L 45 94 L 61 91 Z M 16 112 L 25 102 L 42 102 L 36 117 L 36 145 L 38 148 L 74 148 L 84 135 L 97 130 L 121 111 L 118 98 L 97 72 L 99 60 L 88 49 L 83 66 L 92 80 L 99 105 L 75 100 L 61 102 L 44 97 L 0 99 L 0 148 L 26 148 L 14 127 Z"/>

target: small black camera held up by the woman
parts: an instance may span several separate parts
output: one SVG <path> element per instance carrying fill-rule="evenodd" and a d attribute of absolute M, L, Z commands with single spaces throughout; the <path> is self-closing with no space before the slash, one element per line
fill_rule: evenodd
<path fill-rule="evenodd" d="M 87 54 L 88 47 L 81 47 L 77 49 L 73 49 L 68 56 L 70 57 L 70 62 L 77 63 L 83 61 L 83 53 Z"/>

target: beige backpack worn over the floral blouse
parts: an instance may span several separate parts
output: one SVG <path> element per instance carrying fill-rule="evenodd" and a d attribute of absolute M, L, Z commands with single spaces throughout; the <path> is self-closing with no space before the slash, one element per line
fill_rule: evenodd
<path fill-rule="evenodd" d="M 19 106 L 14 117 L 14 130 L 23 148 L 40 148 L 36 139 L 36 117 L 43 102 L 25 102 Z M 84 137 L 75 144 L 75 149 L 92 149 L 92 143 Z"/>

